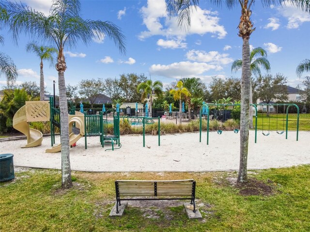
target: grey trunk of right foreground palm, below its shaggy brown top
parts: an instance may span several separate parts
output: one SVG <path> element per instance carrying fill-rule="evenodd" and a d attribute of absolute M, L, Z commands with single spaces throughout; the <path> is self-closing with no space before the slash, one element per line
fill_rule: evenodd
<path fill-rule="evenodd" d="M 243 36 L 242 76 L 241 76 L 241 116 L 240 116 L 240 165 L 238 182 L 248 180 L 248 129 L 249 129 L 249 99 L 250 99 L 250 47 L 249 36 Z"/>

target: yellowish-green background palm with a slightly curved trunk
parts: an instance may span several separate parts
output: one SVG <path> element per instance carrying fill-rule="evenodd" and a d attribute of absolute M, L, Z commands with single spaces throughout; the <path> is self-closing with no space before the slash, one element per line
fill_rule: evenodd
<path fill-rule="evenodd" d="M 203 88 L 205 85 L 202 83 L 200 78 L 192 77 L 192 78 L 182 78 L 183 86 L 186 87 L 190 96 L 186 97 L 186 103 L 188 105 L 188 112 L 190 114 L 191 109 L 193 108 L 191 98 L 200 98 L 203 96 Z M 191 116 L 189 117 L 191 120 Z"/>

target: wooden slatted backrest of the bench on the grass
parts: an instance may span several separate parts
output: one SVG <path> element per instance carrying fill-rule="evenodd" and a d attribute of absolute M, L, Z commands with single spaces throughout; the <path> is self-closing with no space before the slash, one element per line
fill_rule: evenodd
<path fill-rule="evenodd" d="M 118 196 L 193 196 L 195 184 L 190 180 L 117 180 L 115 181 Z"/>

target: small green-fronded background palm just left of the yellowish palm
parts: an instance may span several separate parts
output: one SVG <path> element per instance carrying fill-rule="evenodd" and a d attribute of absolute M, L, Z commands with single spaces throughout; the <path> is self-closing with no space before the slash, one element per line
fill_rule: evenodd
<path fill-rule="evenodd" d="M 142 91 L 141 95 L 141 101 L 144 101 L 144 99 L 147 97 L 148 94 L 150 94 L 150 112 L 152 117 L 152 103 L 153 103 L 153 93 L 157 97 L 160 97 L 163 94 L 163 83 L 161 81 L 155 81 L 153 82 L 151 79 L 147 80 L 146 82 L 142 82 L 137 86 L 137 91 Z"/>

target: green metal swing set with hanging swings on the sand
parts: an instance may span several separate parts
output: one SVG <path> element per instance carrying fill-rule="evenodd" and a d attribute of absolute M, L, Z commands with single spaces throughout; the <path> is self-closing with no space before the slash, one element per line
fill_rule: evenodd
<path fill-rule="evenodd" d="M 274 105 L 274 104 L 250 104 L 251 106 L 254 107 L 255 109 L 255 138 L 254 138 L 254 142 L 256 143 L 257 142 L 257 107 L 258 106 L 264 106 L 264 105 L 267 105 L 268 107 L 271 106 L 271 105 Z M 277 133 L 278 134 L 283 134 L 284 133 L 284 122 L 285 122 L 285 107 L 286 107 L 286 136 L 285 136 L 285 139 L 287 139 L 287 136 L 288 136 L 288 113 L 289 113 L 289 108 L 291 106 L 294 106 L 296 107 L 297 109 L 297 125 L 296 125 L 296 141 L 298 141 L 298 130 L 299 130 L 299 108 L 296 104 L 276 104 L 277 105 Z M 215 111 L 215 118 L 216 120 L 219 118 L 219 116 L 217 116 L 217 107 L 218 106 L 241 106 L 241 104 L 217 104 L 217 103 L 206 103 L 206 104 L 203 104 L 201 109 L 200 109 L 200 130 L 199 130 L 199 134 L 200 134 L 200 139 L 199 139 L 199 142 L 202 142 L 202 108 L 205 107 L 205 112 L 203 114 L 207 115 L 207 145 L 209 145 L 209 115 L 210 115 L 210 109 L 209 109 L 209 106 L 212 106 L 212 107 L 215 107 L 216 111 Z M 278 108 L 279 106 L 283 106 L 283 125 L 282 125 L 282 131 L 279 131 L 279 120 L 278 120 Z M 220 115 L 220 113 L 219 113 Z M 263 117 L 262 117 L 262 123 L 263 123 Z M 217 134 L 222 134 L 222 130 L 220 130 L 218 128 L 218 124 L 217 124 L 217 121 L 216 121 L 216 125 L 217 125 Z M 239 130 L 238 129 L 234 129 L 233 130 L 234 133 L 238 133 Z M 268 123 L 268 132 L 266 132 L 266 130 L 262 131 L 263 135 L 264 136 L 268 136 L 270 134 L 270 117 L 269 117 L 269 123 Z"/>

